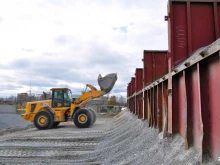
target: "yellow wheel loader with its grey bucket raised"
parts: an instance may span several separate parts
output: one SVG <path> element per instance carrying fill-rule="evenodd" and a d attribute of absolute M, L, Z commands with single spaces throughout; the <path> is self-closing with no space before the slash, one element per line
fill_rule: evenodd
<path fill-rule="evenodd" d="M 21 117 L 32 121 L 38 129 L 50 129 L 69 119 L 73 120 L 79 128 L 88 128 L 95 123 L 96 115 L 93 110 L 87 109 L 85 104 L 91 99 L 109 93 L 116 81 L 116 73 L 104 77 L 99 75 L 100 90 L 93 85 L 86 84 L 85 91 L 76 99 L 72 98 L 71 90 L 68 88 L 52 88 L 50 100 L 28 102 L 26 111 Z"/>

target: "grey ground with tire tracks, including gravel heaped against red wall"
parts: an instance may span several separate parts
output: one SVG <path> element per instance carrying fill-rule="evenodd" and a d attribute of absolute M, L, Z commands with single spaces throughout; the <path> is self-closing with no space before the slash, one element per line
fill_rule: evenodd
<path fill-rule="evenodd" d="M 68 122 L 42 131 L 3 130 L 0 164 L 199 164 L 199 153 L 193 148 L 185 151 L 180 136 L 161 139 L 157 130 L 147 125 L 124 111 L 114 118 L 99 115 L 88 129 Z"/>

